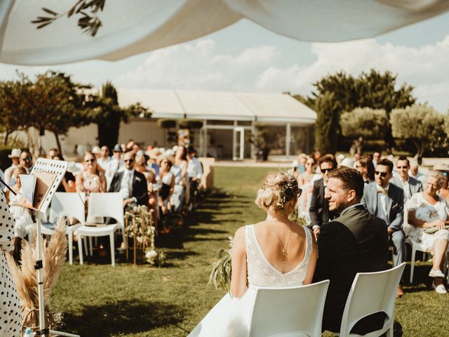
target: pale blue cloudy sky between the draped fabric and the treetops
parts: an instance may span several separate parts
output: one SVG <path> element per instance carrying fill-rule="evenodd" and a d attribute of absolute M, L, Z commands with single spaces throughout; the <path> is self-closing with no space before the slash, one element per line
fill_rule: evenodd
<path fill-rule="evenodd" d="M 54 67 L 1 65 L 1 79 L 47 69 L 76 81 L 118 88 L 257 91 L 309 95 L 311 84 L 337 70 L 358 75 L 375 68 L 398 74 L 420 102 L 449 107 L 449 13 L 375 39 L 311 44 L 270 32 L 248 20 L 201 39 L 118 62 L 88 61 Z"/>

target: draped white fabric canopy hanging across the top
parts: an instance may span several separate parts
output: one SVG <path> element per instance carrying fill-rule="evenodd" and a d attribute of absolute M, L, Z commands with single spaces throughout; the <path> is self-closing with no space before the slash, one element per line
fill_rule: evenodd
<path fill-rule="evenodd" d="M 447 0 L 106 0 L 102 27 L 83 34 L 66 16 L 36 29 L 42 7 L 64 13 L 74 0 L 1 0 L 0 62 L 55 65 L 120 60 L 180 44 L 248 18 L 302 41 L 374 37 L 448 11 Z"/>

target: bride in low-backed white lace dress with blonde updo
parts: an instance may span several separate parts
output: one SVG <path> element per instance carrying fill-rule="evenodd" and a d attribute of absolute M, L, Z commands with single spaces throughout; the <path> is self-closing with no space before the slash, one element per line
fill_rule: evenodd
<path fill-rule="evenodd" d="M 257 192 L 255 204 L 267 218 L 240 227 L 232 246 L 231 292 L 189 334 L 248 336 L 256 289 L 310 284 L 316 265 L 316 242 L 306 228 L 290 221 L 301 189 L 294 176 L 272 172 Z"/>

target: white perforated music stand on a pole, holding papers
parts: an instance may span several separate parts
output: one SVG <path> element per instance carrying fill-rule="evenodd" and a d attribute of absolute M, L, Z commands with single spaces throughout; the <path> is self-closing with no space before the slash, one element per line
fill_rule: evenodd
<path fill-rule="evenodd" d="M 79 335 L 74 335 L 72 333 L 66 333 L 61 331 L 53 331 L 46 329 L 45 326 L 45 312 L 43 305 L 43 272 L 42 272 L 42 237 L 41 237 L 41 225 L 42 225 L 42 213 L 45 213 L 48 209 L 48 205 L 51 202 L 53 194 L 55 194 L 58 186 L 60 185 L 62 178 L 64 178 L 65 171 L 67 170 L 67 166 L 69 163 L 67 161 L 60 160 L 52 160 L 52 159 L 37 159 L 36 163 L 34 163 L 33 169 L 30 175 L 34 175 L 37 177 L 36 187 L 34 190 L 34 198 L 33 205 L 29 207 L 30 209 L 34 209 L 36 211 L 36 242 L 37 242 L 37 260 L 34 269 L 37 270 L 37 289 L 39 294 L 39 331 L 36 331 L 37 336 L 48 336 L 49 333 L 54 334 L 55 336 L 67 336 L 67 337 L 80 337 Z M 48 173 L 54 176 L 52 180 L 39 181 L 39 173 L 46 174 L 48 177 Z M 51 182 L 51 184 L 50 184 Z M 48 183 L 48 185 L 46 185 Z M 45 188 L 43 188 L 45 186 Z M 37 199 L 35 199 L 37 197 Z"/>

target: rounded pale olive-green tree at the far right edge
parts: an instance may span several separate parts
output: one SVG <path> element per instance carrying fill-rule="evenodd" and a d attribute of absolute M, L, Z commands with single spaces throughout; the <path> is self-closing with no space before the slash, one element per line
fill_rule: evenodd
<path fill-rule="evenodd" d="M 395 138 L 408 139 L 416 147 L 418 161 L 425 150 L 435 152 L 448 148 L 448 135 L 445 133 L 445 116 L 427 105 L 413 105 L 395 109 L 390 117 L 391 130 Z"/>

